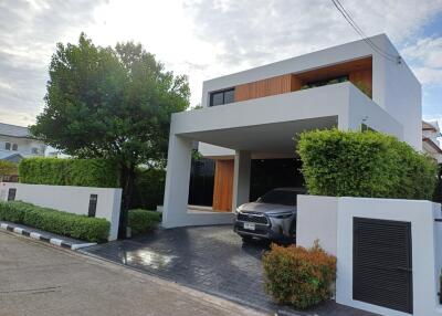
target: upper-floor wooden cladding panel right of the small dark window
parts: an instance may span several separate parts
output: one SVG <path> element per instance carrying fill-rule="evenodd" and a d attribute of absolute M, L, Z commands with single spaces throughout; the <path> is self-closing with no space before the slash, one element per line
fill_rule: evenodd
<path fill-rule="evenodd" d="M 235 102 L 283 94 L 301 88 L 301 82 L 287 74 L 235 86 Z"/>

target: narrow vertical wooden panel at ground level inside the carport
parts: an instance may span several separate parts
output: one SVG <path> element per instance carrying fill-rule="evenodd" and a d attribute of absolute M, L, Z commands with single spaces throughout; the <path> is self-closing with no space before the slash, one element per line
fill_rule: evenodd
<path fill-rule="evenodd" d="M 213 211 L 231 212 L 234 160 L 217 160 L 214 169 Z"/>

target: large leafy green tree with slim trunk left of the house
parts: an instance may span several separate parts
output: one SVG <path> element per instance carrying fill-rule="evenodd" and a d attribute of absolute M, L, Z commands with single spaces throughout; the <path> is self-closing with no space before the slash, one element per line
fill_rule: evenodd
<path fill-rule="evenodd" d="M 57 44 L 45 107 L 31 131 L 65 154 L 115 161 L 123 188 L 122 227 L 139 164 L 164 164 L 170 115 L 189 106 L 183 75 L 165 70 L 140 44 Z"/>

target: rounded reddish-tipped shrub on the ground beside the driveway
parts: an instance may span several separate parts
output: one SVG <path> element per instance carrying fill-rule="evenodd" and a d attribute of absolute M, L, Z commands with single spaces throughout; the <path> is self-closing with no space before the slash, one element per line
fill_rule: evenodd
<path fill-rule="evenodd" d="M 336 257 L 317 243 L 312 249 L 272 244 L 263 266 L 265 289 L 277 303 L 307 308 L 333 295 Z"/>

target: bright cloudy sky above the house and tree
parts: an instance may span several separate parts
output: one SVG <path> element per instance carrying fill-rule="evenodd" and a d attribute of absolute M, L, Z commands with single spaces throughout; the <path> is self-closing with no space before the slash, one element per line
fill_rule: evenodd
<path fill-rule="evenodd" d="M 442 127 L 442 0 L 340 0 L 367 35 L 386 33 Z M 360 39 L 330 0 L 0 0 L 0 122 L 43 110 L 57 42 L 139 42 L 167 70 L 202 81 Z"/>

